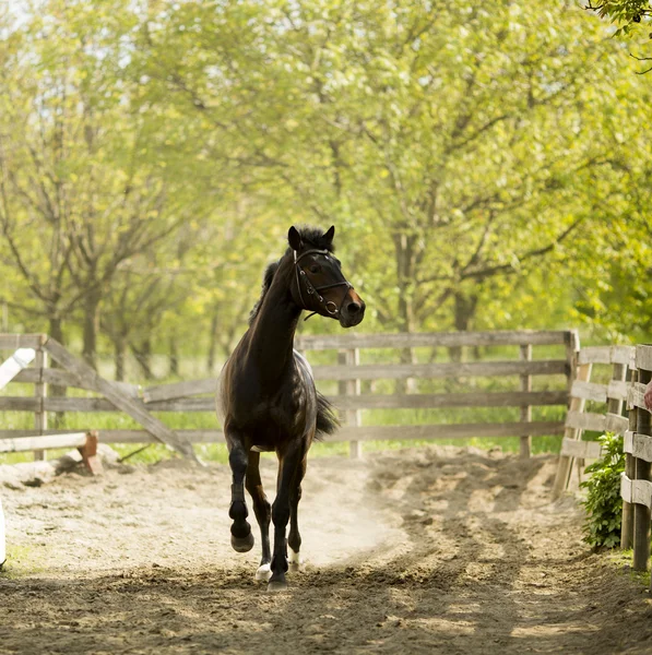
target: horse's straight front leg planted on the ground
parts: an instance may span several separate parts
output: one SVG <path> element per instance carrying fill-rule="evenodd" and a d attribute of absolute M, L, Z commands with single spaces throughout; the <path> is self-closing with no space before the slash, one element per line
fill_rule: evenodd
<path fill-rule="evenodd" d="M 268 584 L 269 592 L 282 592 L 287 588 L 285 573 L 287 572 L 287 543 L 285 529 L 289 521 L 291 491 L 297 479 L 304 453 L 300 448 L 292 448 L 281 457 L 276 499 L 272 505 L 272 522 L 274 523 L 274 553 L 272 556 L 272 577 Z"/>

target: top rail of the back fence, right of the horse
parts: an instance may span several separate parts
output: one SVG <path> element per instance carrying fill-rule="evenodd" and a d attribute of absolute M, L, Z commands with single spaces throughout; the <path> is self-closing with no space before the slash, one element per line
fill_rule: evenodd
<path fill-rule="evenodd" d="M 564 345 L 568 330 L 511 330 L 496 332 L 428 332 L 357 334 L 346 332 L 329 335 L 305 335 L 295 341 L 300 350 L 330 350 L 349 348 L 418 348 L 452 346 L 534 346 Z"/>

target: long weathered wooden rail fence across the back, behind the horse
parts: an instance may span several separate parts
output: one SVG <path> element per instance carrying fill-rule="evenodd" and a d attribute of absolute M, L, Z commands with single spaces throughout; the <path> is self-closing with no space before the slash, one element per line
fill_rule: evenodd
<path fill-rule="evenodd" d="M 441 353 L 450 348 L 513 347 L 513 356 L 500 360 L 432 361 L 396 364 L 396 352 L 427 348 Z M 560 356 L 538 359 L 535 348 L 559 346 Z M 224 436 L 217 429 L 171 430 L 152 416 L 152 412 L 213 412 L 214 378 L 175 384 L 140 388 L 100 378 L 81 359 L 73 357 L 60 344 L 43 335 L 0 334 L 0 349 L 34 348 L 34 366 L 15 374 L 14 382 L 34 384 L 34 395 L 0 396 L 0 410 L 32 412 L 34 430 L 0 430 L 0 452 L 20 449 L 21 440 L 31 439 L 28 450 L 38 448 L 36 437 L 66 434 L 64 430 L 48 428 L 51 412 L 123 412 L 137 420 L 142 429 L 103 429 L 99 440 L 107 443 L 146 443 L 161 441 L 179 452 L 191 454 L 191 443 L 218 442 Z M 521 438 L 521 454 L 530 455 L 531 438 L 557 434 L 565 429 L 561 420 L 532 420 L 532 408 L 550 405 L 566 406 L 572 384 L 579 338 L 574 331 L 506 331 L 416 334 L 357 334 L 332 336 L 303 336 L 297 340 L 303 352 L 332 350 L 336 364 L 315 366 L 318 385 L 336 382 L 337 393 L 330 400 L 343 410 L 344 426 L 333 440 L 351 442 L 351 453 L 358 456 L 366 440 L 386 439 L 457 439 L 469 437 Z M 510 348 L 503 348 L 503 350 Z M 387 354 L 387 355 L 386 355 Z M 374 355 L 374 361 L 368 355 Z M 334 353 L 333 353 L 334 356 Z M 48 357 L 60 368 L 49 368 Z M 380 359 L 380 361 L 378 361 Z M 550 384 L 533 391 L 533 379 L 553 377 Z M 513 388 L 501 391 L 472 391 L 477 379 L 502 378 L 513 381 Z M 374 393 L 369 381 L 446 379 L 465 386 L 462 393 Z M 546 380 L 549 380 L 546 378 Z M 94 397 L 55 397 L 46 393 L 48 384 L 83 389 L 97 394 Z M 552 388 L 550 388 L 552 386 Z M 519 419 L 500 422 L 463 422 L 427 425 L 363 425 L 366 409 L 425 409 L 460 407 L 517 407 Z M 92 421 L 87 426 L 94 429 Z M 64 439 L 63 439 L 64 441 Z M 54 442 L 52 442 L 54 443 Z M 51 448 L 48 445 L 43 448 Z M 27 450 L 22 448 L 21 450 Z"/>

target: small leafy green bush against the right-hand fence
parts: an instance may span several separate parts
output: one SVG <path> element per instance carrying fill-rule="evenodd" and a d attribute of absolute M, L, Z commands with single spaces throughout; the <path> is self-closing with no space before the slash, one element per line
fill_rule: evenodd
<path fill-rule="evenodd" d="M 591 476 L 580 486 L 586 489 L 584 541 L 593 548 L 614 548 L 620 543 L 623 499 L 620 474 L 625 472 L 623 437 L 607 432 L 598 438 L 602 456 L 586 473 Z"/>

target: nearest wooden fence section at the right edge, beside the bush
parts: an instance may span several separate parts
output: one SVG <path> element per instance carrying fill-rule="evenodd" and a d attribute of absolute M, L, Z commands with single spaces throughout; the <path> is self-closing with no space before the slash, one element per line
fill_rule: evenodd
<path fill-rule="evenodd" d="M 652 379 L 652 346 L 637 346 L 636 371 L 627 406 L 629 430 L 625 433 L 625 473 L 621 478 L 623 548 L 633 547 L 633 568 L 645 571 L 650 562 L 650 510 L 652 508 L 652 415 L 643 394 Z"/>

